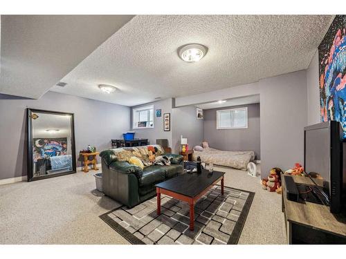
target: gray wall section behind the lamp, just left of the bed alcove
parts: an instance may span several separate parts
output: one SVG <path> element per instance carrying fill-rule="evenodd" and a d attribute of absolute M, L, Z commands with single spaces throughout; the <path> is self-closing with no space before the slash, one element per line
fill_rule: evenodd
<path fill-rule="evenodd" d="M 181 151 L 180 138 L 188 138 L 189 148 L 201 145 L 203 141 L 203 119 L 197 119 L 195 106 L 173 108 L 173 145 L 172 151 Z"/>

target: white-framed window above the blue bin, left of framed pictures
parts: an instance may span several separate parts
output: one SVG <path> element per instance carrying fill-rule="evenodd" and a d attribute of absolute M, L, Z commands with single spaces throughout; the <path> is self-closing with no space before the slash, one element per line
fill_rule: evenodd
<path fill-rule="evenodd" d="M 154 128 L 154 106 L 134 108 L 132 118 L 132 128 Z"/>

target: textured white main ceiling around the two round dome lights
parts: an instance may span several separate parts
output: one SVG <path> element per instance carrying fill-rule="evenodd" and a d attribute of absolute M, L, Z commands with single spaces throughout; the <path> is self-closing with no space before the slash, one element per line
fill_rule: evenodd
<path fill-rule="evenodd" d="M 134 106 L 247 84 L 309 66 L 331 16 L 139 15 L 51 90 Z M 184 44 L 208 47 L 198 63 L 177 55 Z M 98 84 L 120 91 L 100 92 Z"/>

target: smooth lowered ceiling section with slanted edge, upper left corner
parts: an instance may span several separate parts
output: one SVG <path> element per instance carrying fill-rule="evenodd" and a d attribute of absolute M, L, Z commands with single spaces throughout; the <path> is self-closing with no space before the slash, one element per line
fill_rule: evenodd
<path fill-rule="evenodd" d="M 0 93 L 39 98 L 133 15 L 1 15 Z"/>

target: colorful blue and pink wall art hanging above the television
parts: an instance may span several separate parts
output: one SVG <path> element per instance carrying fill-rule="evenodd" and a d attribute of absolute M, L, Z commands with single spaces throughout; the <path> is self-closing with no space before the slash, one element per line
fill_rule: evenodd
<path fill-rule="evenodd" d="M 346 15 L 336 15 L 318 47 L 321 121 L 336 120 L 346 139 Z"/>

